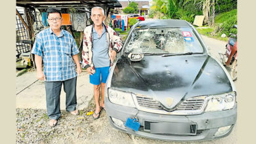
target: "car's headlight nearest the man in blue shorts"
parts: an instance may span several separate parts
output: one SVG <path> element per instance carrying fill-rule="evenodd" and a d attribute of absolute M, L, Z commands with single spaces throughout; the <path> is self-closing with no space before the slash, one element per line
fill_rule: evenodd
<path fill-rule="evenodd" d="M 116 103 L 118 105 L 135 107 L 133 96 L 131 96 L 130 92 L 123 92 L 120 90 L 108 88 L 108 99 L 110 99 L 110 102 Z"/>

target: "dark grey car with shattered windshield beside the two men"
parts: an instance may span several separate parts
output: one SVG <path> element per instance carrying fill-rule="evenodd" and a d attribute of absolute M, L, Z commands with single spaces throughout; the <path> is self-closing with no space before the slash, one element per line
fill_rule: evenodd
<path fill-rule="evenodd" d="M 105 105 L 114 128 L 171 141 L 225 137 L 237 118 L 234 82 L 184 20 L 131 28 L 110 69 Z"/>

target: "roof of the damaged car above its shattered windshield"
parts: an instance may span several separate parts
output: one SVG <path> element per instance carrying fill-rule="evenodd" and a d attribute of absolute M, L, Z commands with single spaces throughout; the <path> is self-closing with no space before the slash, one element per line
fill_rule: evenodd
<path fill-rule="evenodd" d="M 142 21 L 137 24 L 139 28 L 146 27 L 190 27 L 189 23 L 186 20 L 147 20 Z"/>

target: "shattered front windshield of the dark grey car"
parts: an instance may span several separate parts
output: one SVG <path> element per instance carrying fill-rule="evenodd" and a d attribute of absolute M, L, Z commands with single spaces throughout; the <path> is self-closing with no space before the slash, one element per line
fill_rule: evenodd
<path fill-rule="evenodd" d="M 177 54 L 203 52 L 190 27 L 135 29 L 125 53 Z"/>

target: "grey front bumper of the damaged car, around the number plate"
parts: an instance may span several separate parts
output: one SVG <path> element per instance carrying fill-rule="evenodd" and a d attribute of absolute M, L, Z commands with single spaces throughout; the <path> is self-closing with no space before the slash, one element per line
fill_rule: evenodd
<path fill-rule="evenodd" d="M 140 135 L 143 137 L 149 137 L 153 139 L 163 139 L 163 140 L 171 140 L 171 141 L 201 141 L 201 140 L 209 140 L 225 137 L 232 132 L 234 124 L 236 123 L 236 106 L 234 109 L 227 111 L 217 111 L 217 112 L 207 112 L 201 115 L 162 115 L 156 113 L 148 113 L 144 111 L 139 111 L 133 107 L 125 107 L 122 105 L 116 105 L 111 103 L 108 98 L 105 98 L 105 106 L 106 106 L 106 114 L 110 124 L 117 128 L 118 130 L 122 130 L 123 132 L 127 132 L 133 135 Z M 125 124 L 127 118 L 138 118 L 140 122 L 139 131 L 135 132 L 130 128 L 121 128 L 117 124 L 114 124 L 112 118 L 116 118 L 121 120 L 123 124 Z M 144 122 L 170 122 L 173 123 L 183 123 L 184 124 L 196 124 L 196 134 L 188 135 L 188 134 L 151 134 L 150 130 L 145 130 Z M 219 128 L 224 126 L 231 126 L 228 132 L 218 137 L 215 137 L 215 133 Z"/>

